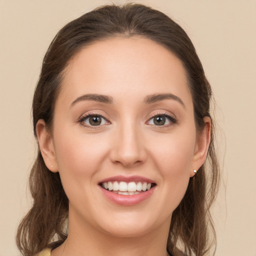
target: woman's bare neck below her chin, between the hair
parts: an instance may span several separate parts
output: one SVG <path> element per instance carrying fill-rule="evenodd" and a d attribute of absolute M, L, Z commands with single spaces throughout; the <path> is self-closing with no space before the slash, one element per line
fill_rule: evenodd
<path fill-rule="evenodd" d="M 169 223 L 170 218 L 153 230 L 136 236 L 119 237 L 69 214 L 68 237 L 52 251 L 51 256 L 166 256 Z"/>

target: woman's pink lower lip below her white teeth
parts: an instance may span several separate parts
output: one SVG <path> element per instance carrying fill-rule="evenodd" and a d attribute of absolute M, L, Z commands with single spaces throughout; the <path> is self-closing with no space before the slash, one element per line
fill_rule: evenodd
<path fill-rule="evenodd" d="M 115 204 L 119 204 L 122 206 L 132 206 L 132 205 L 136 205 L 136 204 L 144 201 L 153 193 L 153 191 L 155 189 L 155 186 L 153 186 L 149 190 L 140 192 L 138 194 L 124 195 L 124 194 L 117 194 L 117 193 L 110 192 L 101 186 L 99 186 L 99 187 L 100 187 L 103 195 L 108 200 L 110 200 L 111 202 L 113 202 Z"/>

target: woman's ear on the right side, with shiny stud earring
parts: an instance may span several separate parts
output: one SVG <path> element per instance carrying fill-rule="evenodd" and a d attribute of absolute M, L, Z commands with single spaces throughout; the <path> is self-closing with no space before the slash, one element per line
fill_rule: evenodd
<path fill-rule="evenodd" d="M 204 121 L 204 128 L 200 132 L 200 134 L 197 135 L 196 138 L 196 144 L 194 148 L 194 155 L 192 159 L 192 166 L 190 170 L 190 177 L 192 177 L 195 173 L 193 170 L 198 170 L 199 167 L 204 163 L 208 147 L 210 143 L 210 129 L 211 129 L 211 121 L 210 117 L 205 116 L 203 118 Z"/>

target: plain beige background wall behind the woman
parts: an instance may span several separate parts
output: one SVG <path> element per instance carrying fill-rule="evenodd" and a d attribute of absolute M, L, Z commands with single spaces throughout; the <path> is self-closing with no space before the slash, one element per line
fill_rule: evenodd
<path fill-rule="evenodd" d="M 33 89 L 48 44 L 66 22 L 108 0 L 0 0 L 0 256 L 29 206 Z M 118 2 L 118 1 L 115 1 Z M 120 1 L 119 1 L 120 2 Z M 226 182 L 214 208 L 217 256 L 256 256 L 256 0 L 141 0 L 192 39 L 213 87 Z"/>

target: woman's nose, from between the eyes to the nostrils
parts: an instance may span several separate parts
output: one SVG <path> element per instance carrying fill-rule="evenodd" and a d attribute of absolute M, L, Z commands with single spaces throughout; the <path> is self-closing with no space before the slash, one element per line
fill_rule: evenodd
<path fill-rule="evenodd" d="M 143 136 L 136 125 L 126 123 L 117 127 L 111 142 L 110 159 L 113 163 L 133 167 L 146 160 Z"/>

